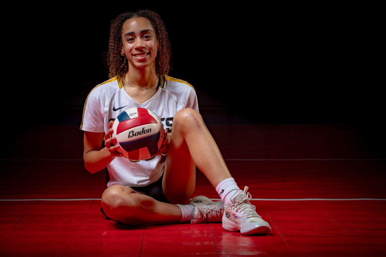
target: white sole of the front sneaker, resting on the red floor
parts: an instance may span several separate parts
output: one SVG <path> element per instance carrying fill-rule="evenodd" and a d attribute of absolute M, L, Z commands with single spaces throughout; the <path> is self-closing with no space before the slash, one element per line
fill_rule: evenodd
<path fill-rule="evenodd" d="M 222 217 L 222 227 L 227 231 L 240 231 L 240 233 L 243 235 L 267 234 L 271 232 L 271 227 L 269 226 L 268 222 L 253 222 L 240 225 L 224 217 Z"/>

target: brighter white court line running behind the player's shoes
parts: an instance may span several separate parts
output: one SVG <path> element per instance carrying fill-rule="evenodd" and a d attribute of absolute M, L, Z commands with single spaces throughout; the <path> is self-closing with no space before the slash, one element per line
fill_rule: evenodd
<path fill-rule="evenodd" d="M 12 201 L 87 201 L 87 200 L 102 200 L 98 198 L 84 198 L 84 199 L 0 199 L 0 202 L 12 202 Z M 190 199 L 191 200 L 191 199 Z M 221 200 L 218 198 L 210 198 L 210 200 Z M 382 198 L 299 198 L 299 199 L 269 199 L 269 198 L 252 198 L 252 201 L 363 201 L 363 200 L 378 200 L 386 201 Z"/>

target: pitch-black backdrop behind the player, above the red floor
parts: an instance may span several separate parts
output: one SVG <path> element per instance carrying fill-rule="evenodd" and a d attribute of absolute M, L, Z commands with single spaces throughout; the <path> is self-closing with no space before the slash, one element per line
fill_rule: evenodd
<path fill-rule="evenodd" d="M 169 75 L 196 88 L 202 112 L 220 107 L 262 124 L 384 126 L 377 8 L 276 4 L 25 8 L 3 32 L 5 120 L 80 124 L 88 92 L 108 79 L 111 20 L 138 8 L 163 18 Z"/>

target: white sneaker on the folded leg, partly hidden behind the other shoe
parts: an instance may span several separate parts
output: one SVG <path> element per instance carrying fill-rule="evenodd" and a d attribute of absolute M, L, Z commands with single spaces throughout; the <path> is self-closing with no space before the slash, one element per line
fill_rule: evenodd
<path fill-rule="evenodd" d="M 191 224 L 221 222 L 224 214 L 224 202 L 213 202 L 208 197 L 199 195 L 190 200 L 188 204 L 195 207 Z"/>

